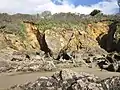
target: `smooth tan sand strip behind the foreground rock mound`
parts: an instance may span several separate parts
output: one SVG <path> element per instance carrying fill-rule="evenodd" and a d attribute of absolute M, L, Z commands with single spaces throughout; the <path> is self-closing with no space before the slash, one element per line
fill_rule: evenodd
<path fill-rule="evenodd" d="M 97 68 L 86 68 L 86 67 L 77 67 L 77 68 L 68 68 L 75 72 L 87 72 L 90 74 L 94 74 L 101 79 L 111 77 L 111 76 L 119 76 L 120 73 L 117 72 L 108 72 L 108 71 L 100 71 Z M 51 76 L 54 72 L 33 72 L 33 73 L 2 73 L 0 74 L 0 90 L 4 90 L 16 84 L 24 84 L 29 81 L 35 81 L 40 76 Z"/>

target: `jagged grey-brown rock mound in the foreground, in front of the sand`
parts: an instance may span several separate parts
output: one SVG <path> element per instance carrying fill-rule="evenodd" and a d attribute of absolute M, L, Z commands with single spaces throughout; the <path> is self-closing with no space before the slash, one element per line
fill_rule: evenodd
<path fill-rule="evenodd" d="M 88 73 L 76 73 L 68 69 L 56 72 L 51 77 L 40 77 L 35 82 L 16 85 L 9 90 L 119 90 L 120 77 L 100 80 Z"/>

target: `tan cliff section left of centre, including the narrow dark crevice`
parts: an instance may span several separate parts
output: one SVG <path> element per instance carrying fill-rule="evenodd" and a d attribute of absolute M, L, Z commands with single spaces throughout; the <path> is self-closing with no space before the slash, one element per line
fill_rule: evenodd
<path fill-rule="evenodd" d="M 10 47 L 18 51 L 42 50 L 45 53 L 50 53 L 50 55 L 52 55 L 51 50 L 48 48 L 46 43 L 45 34 L 39 32 L 37 24 L 29 21 L 24 21 L 22 24 L 25 29 L 23 31 L 24 38 L 15 34 L 1 33 L 0 40 L 5 42 L 6 47 Z"/>

